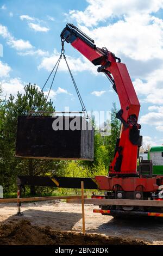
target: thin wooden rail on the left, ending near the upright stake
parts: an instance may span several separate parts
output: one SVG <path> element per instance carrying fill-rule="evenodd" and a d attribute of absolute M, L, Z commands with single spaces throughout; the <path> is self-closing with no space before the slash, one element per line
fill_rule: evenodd
<path fill-rule="evenodd" d="M 84 196 L 86 198 L 87 196 Z M 24 197 L 24 198 L 1 198 L 0 203 L 12 202 L 28 202 L 28 201 L 45 201 L 45 200 L 58 200 L 58 199 L 79 199 L 81 196 L 59 196 L 59 197 Z"/>

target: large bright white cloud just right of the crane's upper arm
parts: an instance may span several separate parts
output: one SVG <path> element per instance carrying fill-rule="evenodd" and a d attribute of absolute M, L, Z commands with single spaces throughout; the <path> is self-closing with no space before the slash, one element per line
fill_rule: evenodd
<path fill-rule="evenodd" d="M 135 13 L 110 25 L 93 29 L 80 26 L 80 29 L 93 38 L 98 47 L 105 46 L 118 57 L 141 61 L 163 57 L 163 21 L 153 16 Z"/>

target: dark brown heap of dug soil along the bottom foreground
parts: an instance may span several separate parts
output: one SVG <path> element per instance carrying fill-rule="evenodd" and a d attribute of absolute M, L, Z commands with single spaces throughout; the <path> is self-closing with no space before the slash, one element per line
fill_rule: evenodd
<path fill-rule="evenodd" d="M 31 225 L 28 220 L 0 225 L 0 245 L 148 245 L 140 239 L 56 231 Z"/>

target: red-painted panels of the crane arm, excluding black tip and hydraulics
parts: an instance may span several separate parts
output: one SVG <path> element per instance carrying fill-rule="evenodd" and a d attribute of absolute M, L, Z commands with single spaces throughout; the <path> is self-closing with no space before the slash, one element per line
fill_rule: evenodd
<path fill-rule="evenodd" d="M 117 63 L 116 59 L 111 52 L 108 52 L 107 58 L 104 57 L 98 48 L 93 49 L 87 45 L 82 39 L 77 38 L 71 44 L 80 53 L 82 53 L 91 62 L 97 58 L 101 57 L 101 65 L 105 65 L 108 61 L 111 65 L 106 68 L 112 76 L 114 77 L 117 94 L 121 103 L 121 109 L 123 109 L 122 118 L 126 123 L 130 115 L 135 115 L 138 119 L 140 111 L 140 103 L 137 99 L 134 86 L 131 82 L 130 76 L 128 74 L 126 65 L 123 63 Z M 137 149 L 138 146 L 130 142 L 129 132 L 133 125 L 129 125 L 127 129 L 123 126 L 122 134 L 120 138 L 119 147 L 122 147 L 122 164 L 121 169 L 117 172 L 114 170 L 115 163 L 118 157 L 118 152 L 116 153 L 114 160 L 110 164 L 110 174 L 136 174 L 137 172 Z"/>

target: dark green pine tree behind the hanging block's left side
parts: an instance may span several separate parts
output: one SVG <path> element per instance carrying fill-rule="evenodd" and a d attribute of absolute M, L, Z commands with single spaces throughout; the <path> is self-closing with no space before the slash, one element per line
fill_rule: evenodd
<path fill-rule="evenodd" d="M 18 115 L 27 115 L 29 111 L 54 111 L 53 102 L 47 101 L 43 92 L 32 84 L 24 87 L 24 94 L 17 93 L 16 98 L 10 95 L 3 105 L 5 111 L 1 111 L 3 125 L 1 124 L 1 184 L 4 191 L 15 187 L 17 174 L 30 176 L 45 175 L 54 169 L 54 162 L 49 160 L 20 159 L 15 157 L 16 131 Z M 3 110 L 3 108 L 2 108 Z M 30 188 L 32 194 L 34 187 Z"/>

